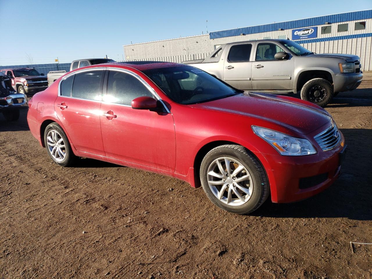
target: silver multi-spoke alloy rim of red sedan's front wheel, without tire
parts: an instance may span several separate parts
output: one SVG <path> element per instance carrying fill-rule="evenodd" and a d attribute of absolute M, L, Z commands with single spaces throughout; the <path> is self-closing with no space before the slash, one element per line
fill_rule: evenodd
<path fill-rule="evenodd" d="M 230 206 L 243 205 L 253 193 L 253 180 L 248 169 L 235 158 L 219 157 L 212 161 L 207 180 L 213 195 Z"/>

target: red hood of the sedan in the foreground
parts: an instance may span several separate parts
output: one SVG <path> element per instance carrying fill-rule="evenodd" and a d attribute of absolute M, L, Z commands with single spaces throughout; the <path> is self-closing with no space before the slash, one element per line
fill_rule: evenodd
<path fill-rule="evenodd" d="M 309 105 L 305 105 L 298 102 L 296 98 L 285 97 L 283 99 L 273 94 L 253 92 L 189 106 L 259 118 L 300 134 L 308 134 L 332 119 L 322 108 L 310 102 Z"/>

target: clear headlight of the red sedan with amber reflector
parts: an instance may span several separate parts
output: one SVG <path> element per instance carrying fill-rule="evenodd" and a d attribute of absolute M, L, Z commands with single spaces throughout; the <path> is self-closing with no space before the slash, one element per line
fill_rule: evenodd
<path fill-rule="evenodd" d="M 317 153 L 310 141 L 304 138 L 294 138 L 259 126 L 252 126 L 252 129 L 256 135 L 269 142 L 281 155 L 301 156 Z"/>

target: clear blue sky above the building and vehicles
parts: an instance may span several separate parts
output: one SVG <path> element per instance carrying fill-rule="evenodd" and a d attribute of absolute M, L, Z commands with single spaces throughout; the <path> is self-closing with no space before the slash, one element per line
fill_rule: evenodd
<path fill-rule="evenodd" d="M 293 4 L 292 4 L 293 3 Z M 122 60 L 122 45 L 372 9 L 359 1 L 0 0 L 0 65 Z"/>

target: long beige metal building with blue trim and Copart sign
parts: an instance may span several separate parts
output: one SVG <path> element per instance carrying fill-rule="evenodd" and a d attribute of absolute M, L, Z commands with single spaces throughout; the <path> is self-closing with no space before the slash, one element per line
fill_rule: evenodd
<path fill-rule="evenodd" d="M 182 62 L 205 58 L 216 47 L 229 42 L 287 38 L 317 53 L 358 55 L 362 70 L 372 71 L 372 10 L 228 29 L 123 47 L 127 61 Z"/>

